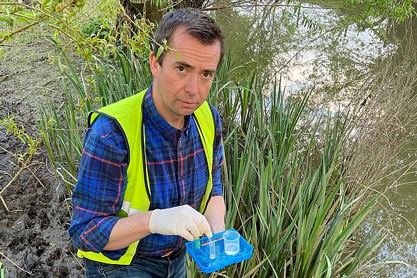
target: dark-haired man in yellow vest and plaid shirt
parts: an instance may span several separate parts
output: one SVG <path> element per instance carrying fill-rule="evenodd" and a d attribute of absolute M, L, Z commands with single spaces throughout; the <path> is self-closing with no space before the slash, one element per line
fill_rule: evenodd
<path fill-rule="evenodd" d="M 167 40 L 170 51 L 156 57 Z M 224 230 L 221 123 L 206 103 L 224 54 L 195 9 L 163 17 L 147 90 L 89 118 L 69 229 L 86 277 L 185 277 L 186 240 Z"/>

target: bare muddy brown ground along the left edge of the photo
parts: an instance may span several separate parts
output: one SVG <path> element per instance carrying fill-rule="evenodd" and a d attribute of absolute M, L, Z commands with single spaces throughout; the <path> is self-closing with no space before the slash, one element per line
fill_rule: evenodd
<path fill-rule="evenodd" d="M 0 29 L 2 26 L 0 25 Z M 38 105 L 63 101 L 60 70 L 51 57 L 58 51 L 42 27 L 0 45 L 0 119 L 15 116 L 30 136 L 37 136 Z M 17 154 L 25 144 L 0 127 L 0 191 L 22 167 Z M 82 277 L 82 263 L 67 234 L 70 199 L 47 165 L 44 149 L 33 156 L 1 193 L 0 261 L 6 277 Z"/>

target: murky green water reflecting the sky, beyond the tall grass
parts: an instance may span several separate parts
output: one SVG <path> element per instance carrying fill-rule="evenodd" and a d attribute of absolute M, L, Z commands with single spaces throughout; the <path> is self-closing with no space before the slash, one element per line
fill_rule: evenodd
<path fill-rule="evenodd" d="M 340 106 L 358 97 L 365 101 L 373 92 L 362 95 L 358 92 L 364 83 L 373 80 L 370 74 L 376 65 L 393 60 L 398 65 L 406 61 L 404 64 L 410 69 L 416 65 L 416 60 L 410 60 L 416 59 L 414 54 L 417 52 L 416 17 L 414 22 L 395 26 L 395 33 L 383 41 L 375 33 L 361 31 L 354 24 L 345 26 L 334 10 L 308 7 L 304 12 L 312 19 L 310 26 L 308 22 L 302 22 L 293 7 L 284 6 L 220 10 L 215 12 L 215 17 L 222 25 L 227 46 L 237 55 L 237 65 L 256 61 L 247 68 L 258 67 L 271 78 L 282 76 L 282 85 L 287 91 L 314 87 L 313 98 L 320 106 Z M 413 28 L 409 27 L 410 24 Z M 416 74 L 416 71 L 410 73 Z M 414 86 L 417 95 L 417 76 L 410 76 L 409 80 L 414 80 L 414 84 L 404 86 Z M 373 81 L 382 82 L 377 76 Z M 411 124 L 402 132 L 414 136 L 414 142 L 398 156 L 402 165 L 407 165 L 417 161 L 417 127 Z M 408 171 L 409 174 L 400 178 L 398 172 L 381 185 L 379 190 L 382 192 L 388 188 L 385 194 L 389 202 L 383 199 L 368 220 L 389 234 L 375 261 L 404 261 L 408 265 L 384 265 L 377 274 L 369 277 L 417 277 L 414 229 L 417 227 L 417 165 Z"/>

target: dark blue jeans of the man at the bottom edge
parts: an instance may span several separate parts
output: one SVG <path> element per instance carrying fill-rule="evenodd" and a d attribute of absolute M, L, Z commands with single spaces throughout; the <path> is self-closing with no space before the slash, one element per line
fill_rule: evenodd
<path fill-rule="evenodd" d="M 130 265 L 111 265 L 84 258 L 86 278 L 185 278 L 186 249 L 169 256 L 135 256 Z"/>

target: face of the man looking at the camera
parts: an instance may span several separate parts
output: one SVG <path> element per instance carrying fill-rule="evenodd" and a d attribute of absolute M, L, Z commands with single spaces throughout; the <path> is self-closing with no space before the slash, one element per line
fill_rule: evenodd
<path fill-rule="evenodd" d="M 182 129 L 184 116 L 197 110 L 208 96 L 220 60 L 220 43 L 202 44 L 178 28 L 170 47 L 174 50 L 165 54 L 162 66 L 154 53 L 149 55 L 152 98 L 163 119 Z"/>

